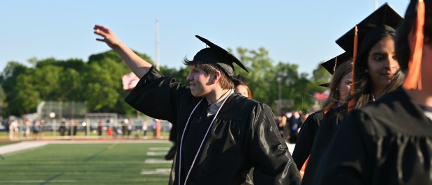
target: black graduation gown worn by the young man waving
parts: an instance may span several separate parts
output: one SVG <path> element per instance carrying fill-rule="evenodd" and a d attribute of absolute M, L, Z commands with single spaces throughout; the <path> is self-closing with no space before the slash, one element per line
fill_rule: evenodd
<path fill-rule="evenodd" d="M 191 90 L 165 78 L 154 67 L 126 97 L 133 108 L 154 118 L 177 124 L 176 178 L 184 184 L 188 170 L 214 115 L 207 118 L 203 99 L 191 116 L 181 147 L 186 122 L 198 102 Z M 204 139 L 187 184 L 246 184 L 253 170 L 255 184 L 300 184 L 301 178 L 288 146 L 278 132 L 266 104 L 234 93 L 228 97 Z M 181 172 L 181 177 L 179 177 Z"/>

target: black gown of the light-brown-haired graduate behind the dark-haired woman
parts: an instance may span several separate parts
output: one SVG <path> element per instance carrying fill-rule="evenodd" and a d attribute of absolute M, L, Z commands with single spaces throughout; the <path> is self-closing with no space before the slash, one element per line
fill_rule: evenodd
<path fill-rule="evenodd" d="M 304 161 L 308 159 L 309 154 L 311 154 L 311 149 L 313 145 L 313 140 L 320 127 L 320 122 L 324 117 L 324 112 L 322 110 L 316 111 L 306 118 L 299 131 L 299 137 L 297 138 L 297 143 L 295 144 L 294 151 L 292 152 L 292 159 L 294 159 L 297 169 L 300 170 L 303 166 Z"/>

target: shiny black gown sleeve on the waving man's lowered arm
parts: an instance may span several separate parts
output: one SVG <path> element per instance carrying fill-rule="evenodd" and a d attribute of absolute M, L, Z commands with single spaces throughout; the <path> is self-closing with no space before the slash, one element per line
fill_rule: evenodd
<path fill-rule="evenodd" d="M 258 104 L 252 114 L 248 146 L 255 164 L 254 184 L 301 184 L 299 170 L 279 134 L 269 106 Z"/>

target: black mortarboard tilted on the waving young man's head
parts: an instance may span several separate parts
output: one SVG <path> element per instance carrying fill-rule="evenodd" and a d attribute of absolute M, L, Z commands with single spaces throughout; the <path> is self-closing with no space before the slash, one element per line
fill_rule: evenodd
<path fill-rule="evenodd" d="M 193 61 L 200 61 L 201 63 L 211 65 L 230 78 L 234 76 L 234 65 L 232 65 L 232 63 L 236 63 L 246 72 L 248 72 L 243 63 L 241 63 L 239 59 L 235 58 L 235 56 L 230 54 L 230 52 L 227 50 L 215 45 L 213 42 L 210 42 L 205 38 L 200 37 L 200 35 L 195 35 L 195 37 L 200 39 L 209 47 L 198 51 L 198 53 L 193 57 Z"/>

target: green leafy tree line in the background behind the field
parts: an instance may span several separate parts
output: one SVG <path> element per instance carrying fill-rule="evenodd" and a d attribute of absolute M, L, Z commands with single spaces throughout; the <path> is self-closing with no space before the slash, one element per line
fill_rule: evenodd
<path fill-rule="evenodd" d="M 318 84 L 329 81 L 331 75 L 318 64 L 312 77 L 299 73 L 295 63 L 274 63 L 269 51 L 237 47 L 236 52 L 228 49 L 248 67 L 249 73 L 234 65 L 236 74 L 251 79 L 253 99 L 265 102 L 276 113 L 276 100 L 292 99 L 292 109 L 308 111 L 314 104 L 313 93 L 325 90 Z M 146 54 L 135 51 L 149 63 L 153 60 Z M 89 60 L 70 58 L 66 61 L 46 58 L 29 60 L 31 67 L 10 61 L 0 75 L 0 108 L 3 118 L 9 115 L 23 115 L 36 112 L 41 101 L 86 102 L 88 112 L 110 112 L 125 115 L 135 110 L 124 102 L 128 91 L 123 90 L 121 75 L 131 72 L 120 56 L 106 51 L 89 56 Z M 165 76 L 174 77 L 188 85 L 188 67 L 179 69 L 160 67 Z M 279 78 L 279 81 L 277 80 Z"/>

